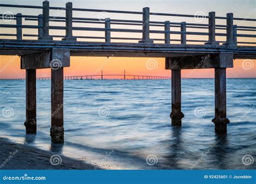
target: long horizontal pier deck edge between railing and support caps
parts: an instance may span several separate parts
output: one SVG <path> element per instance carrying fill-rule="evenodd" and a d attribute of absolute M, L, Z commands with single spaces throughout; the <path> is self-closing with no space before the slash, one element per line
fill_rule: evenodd
<path fill-rule="evenodd" d="M 227 52 L 227 47 L 193 44 L 137 44 L 96 43 L 89 41 L 46 41 L 46 40 L 4 40 L 0 39 L 1 55 L 28 55 L 49 51 L 52 48 L 70 49 L 71 56 L 120 56 L 171 58 L 190 55 L 207 55 Z M 93 52 L 93 54 L 92 54 Z M 230 49 L 234 59 L 256 59 L 256 47 L 237 46 Z"/>

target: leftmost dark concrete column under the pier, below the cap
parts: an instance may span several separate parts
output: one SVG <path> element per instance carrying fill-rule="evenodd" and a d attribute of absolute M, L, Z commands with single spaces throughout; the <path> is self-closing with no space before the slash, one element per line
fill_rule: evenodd
<path fill-rule="evenodd" d="M 36 69 L 26 69 L 26 133 L 36 134 Z"/>

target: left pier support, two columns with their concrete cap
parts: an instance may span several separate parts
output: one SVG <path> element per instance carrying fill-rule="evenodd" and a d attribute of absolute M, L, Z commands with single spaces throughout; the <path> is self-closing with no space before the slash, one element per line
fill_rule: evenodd
<path fill-rule="evenodd" d="M 51 68 L 51 141 L 64 143 L 63 68 L 70 66 L 70 49 L 23 55 L 21 69 L 26 69 L 26 133 L 36 133 L 36 69 Z"/>

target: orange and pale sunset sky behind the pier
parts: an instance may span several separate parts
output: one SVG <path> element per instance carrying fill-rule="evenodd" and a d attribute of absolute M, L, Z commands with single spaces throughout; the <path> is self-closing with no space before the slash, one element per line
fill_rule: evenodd
<path fill-rule="evenodd" d="M 208 15 L 208 12 L 215 11 L 216 16 L 225 17 L 226 13 L 233 12 L 234 17 L 241 18 L 256 18 L 256 1 L 254 0 L 109 0 L 109 1 L 84 1 L 84 0 L 69 0 L 73 3 L 73 8 L 86 8 L 86 9 L 105 9 L 105 10 L 127 10 L 127 11 L 142 11 L 143 7 L 149 7 L 151 12 L 161 13 L 179 13 L 188 15 Z M 64 7 L 66 2 L 69 1 L 51 1 L 50 6 Z M 23 4 L 23 5 L 38 5 L 41 6 L 43 1 L 38 0 L 1 0 L 2 4 Z M 4 13 L 10 11 L 13 14 L 22 13 L 23 15 L 39 15 L 42 10 L 39 9 L 20 9 L 20 8 L 2 8 L 0 12 Z M 65 16 L 63 10 L 51 10 L 50 16 Z M 104 13 L 104 12 L 73 12 L 73 17 L 87 17 L 87 18 L 106 18 L 111 19 L 134 19 L 142 20 L 141 15 L 127 15 L 119 13 Z M 207 24 L 207 19 L 194 19 L 183 17 L 165 17 L 165 16 L 151 16 L 151 20 L 171 22 L 190 22 Z M 0 20 L 3 24 L 3 20 Z M 28 25 L 36 25 L 37 22 L 24 20 L 23 23 Z M 15 20 L 12 20 L 4 24 L 15 24 Z M 217 24 L 225 24 L 224 20 L 217 20 Z M 244 26 L 256 26 L 255 22 L 234 21 L 234 24 Z M 50 25 L 62 25 L 64 23 L 51 22 Z M 85 26 L 85 27 L 103 27 L 104 25 L 96 24 L 73 24 L 73 26 Z M 112 26 L 112 25 L 111 25 Z M 112 27 L 118 28 L 119 25 L 113 25 Z M 120 26 L 119 26 L 120 27 Z M 124 26 L 122 28 L 127 29 L 141 29 L 139 26 Z M 160 30 L 158 27 L 153 27 L 154 30 Z M 173 31 L 179 31 L 177 28 L 171 28 Z M 188 30 L 190 31 L 190 30 Z M 198 31 L 192 30 L 191 31 Z M 222 30 L 218 30 L 221 32 Z M 0 28 L 0 33 L 15 33 L 15 29 L 3 29 Z M 23 34 L 36 34 L 37 30 L 23 29 Z M 241 32 L 242 33 L 242 32 Z M 51 31 L 52 35 L 64 35 L 64 31 Z M 246 32 L 246 34 L 255 34 L 255 32 Z M 104 36 L 104 32 L 89 32 L 89 31 L 73 31 L 74 36 Z M 134 37 L 140 38 L 140 33 L 112 33 L 112 37 Z M 163 38 L 163 35 L 150 34 L 151 38 Z M 178 35 L 171 36 L 173 39 L 178 39 Z M 0 39 L 15 39 L 15 37 L 1 37 Z M 23 37 L 23 39 L 37 39 L 35 37 Z M 56 39 L 59 40 L 60 38 Z M 187 36 L 187 39 L 205 39 L 205 36 Z M 88 39 L 78 39 L 86 41 Z M 217 37 L 217 40 L 225 40 L 223 37 Z M 88 41 L 103 41 L 103 40 L 88 40 Z M 117 41 L 117 40 L 113 40 Z M 256 42 L 256 38 L 238 39 L 238 41 L 253 41 Z M 125 41 L 123 41 L 125 42 Z M 136 41 L 133 41 L 136 42 Z M 160 43 L 160 42 L 159 42 Z M 177 44 L 177 43 L 174 43 Z M 194 43 L 193 43 L 194 44 Z M 149 67 L 149 62 L 153 63 L 153 67 Z M 0 79 L 6 78 L 24 78 L 25 70 L 20 69 L 20 58 L 18 56 L 0 56 Z M 104 74 L 123 74 L 124 70 L 126 74 L 132 75 L 155 75 L 155 76 L 170 76 L 170 70 L 165 70 L 164 58 L 106 58 L 106 57 L 71 57 L 71 66 L 64 68 L 65 76 L 75 75 L 93 75 L 99 74 L 100 70 L 103 70 Z M 214 69 L 197 69 L 194 70 L 182 70 L 182 77 L 190 78 L 211 78 L 214 77 Z M 37 77 L 50 77 L 50 69 L 38 69 Z M 256 61 L 255 60 L 234 60 L 234 67 L 227 68 L 227 77 L 256 77 Z"/>

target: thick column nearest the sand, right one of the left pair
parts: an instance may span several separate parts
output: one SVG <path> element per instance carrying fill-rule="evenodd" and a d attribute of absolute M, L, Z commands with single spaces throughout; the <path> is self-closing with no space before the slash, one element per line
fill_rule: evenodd
<path fill-rule="evenodd" d="M 51 141 L 64 143 L 63 67 L 51 69 Z"/>

